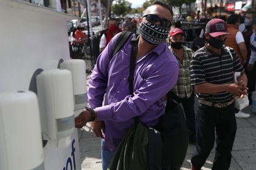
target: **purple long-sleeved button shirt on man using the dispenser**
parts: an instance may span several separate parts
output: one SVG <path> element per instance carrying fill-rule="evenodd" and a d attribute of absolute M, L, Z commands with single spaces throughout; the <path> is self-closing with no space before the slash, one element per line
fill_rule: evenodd
<path fill-rule="evenodd" d="M 115 151 L 134 117 L 140 116 L 140 121 L 149 127 L 157 123 L 165 109 L 163 97 L 176 84 L 179 73 L 177 60 L 166 44 L 158 45 L 137 59 L 132 97 L 128 82 L 130 41 L 112 58 L 115 42 L 116 36 L 99 55 L 88 88 L 89 104 L 96 109 L 98 120 L 105 122 L 108 151 Z"/>

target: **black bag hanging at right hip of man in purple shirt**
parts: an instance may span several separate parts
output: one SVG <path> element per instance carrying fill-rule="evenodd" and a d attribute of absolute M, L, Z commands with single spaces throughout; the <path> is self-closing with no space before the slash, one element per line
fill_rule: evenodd
<path fill-rule="evenodd" d="M 165 114 L 154 127 L 163 140 L 162 168 L 180 170 L 188 149 L 188 131 L 186 118 L 176 94 L 166 94 Z"/>

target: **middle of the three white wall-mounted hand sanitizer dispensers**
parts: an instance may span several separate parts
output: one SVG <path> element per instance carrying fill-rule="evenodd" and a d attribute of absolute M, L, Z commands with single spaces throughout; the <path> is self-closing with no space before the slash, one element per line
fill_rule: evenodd
<path fill-rule="evenodd" d="M 71 72 L 44 70 L 37 75 L 37 94 L 43 138 L 60 148 L 68 146 L 75 129 Z"/>

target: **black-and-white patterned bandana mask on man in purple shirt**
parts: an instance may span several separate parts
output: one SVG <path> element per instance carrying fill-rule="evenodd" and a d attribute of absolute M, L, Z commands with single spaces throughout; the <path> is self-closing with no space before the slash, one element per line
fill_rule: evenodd
<path fill-rule="evenodd" d="M 150 22 L 141 22 L 139 31 L 141 37 L 149 44 L 162 44 L 169 34 L 169 30 Z"/>

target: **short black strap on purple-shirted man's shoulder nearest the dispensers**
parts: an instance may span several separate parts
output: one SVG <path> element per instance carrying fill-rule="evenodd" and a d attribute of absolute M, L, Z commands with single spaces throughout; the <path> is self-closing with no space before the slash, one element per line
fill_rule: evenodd
<path fill-rule="evenodd" d="M 120 35 L 118 35 L 118 38 L 116 39 L 115 47 L 113 48 L 112 57 L 116 55 L 116 53 L 118 53 L 118 51 L 123 48 L 124 44 L 127 42 L 127 39 L 130 37 L 130 35 L 132 35 L 132 32 L 127 32 L 127 31 L 123 31 L 120 33 Z"/>

